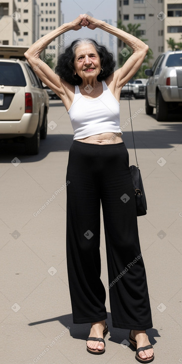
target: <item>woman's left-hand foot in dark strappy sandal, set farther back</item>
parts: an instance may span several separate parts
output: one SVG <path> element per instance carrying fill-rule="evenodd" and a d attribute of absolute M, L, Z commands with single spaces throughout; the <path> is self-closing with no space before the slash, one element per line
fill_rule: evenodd
<path fill-rule="evenodd" d="M 106 328 L 106 323 L 105 320 L 103 321 L 99 321 L 99 322 L 93 322 L 91 323 L 91 330 L 90 330 L 90 335 L 89 337 L 96 337 L 99 338 L 101 337 L 102 339 L 104 339 L 104 335 L 103 335 L 103 331 Z M 87 341 L 87 347 L 89 349 L 94 349 L 94 350 L 103 350 L 104 349 L 104 343 L 100 343 L 99 341 Z"/>

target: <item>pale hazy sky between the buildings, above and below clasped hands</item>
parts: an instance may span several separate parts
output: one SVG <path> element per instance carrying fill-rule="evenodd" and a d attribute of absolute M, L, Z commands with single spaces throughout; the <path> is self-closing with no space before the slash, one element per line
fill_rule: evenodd
<path fill-rule="evenodd" d="M 61 11 L 64 15 L 64 23 L 74 20 L 79 14 L 88 14 L 99 20 L 111 19 L 112 25 L 117 25 L 117 0 L 62 0 Z M 66 41 L 69 45 L 77 38 L 94 38 L 98 43 L 106 45 L 116 55 L 117 53 L 117 37 L 111 35 L 99 28 L 91 30 L 82 27 L 78 31 L 70 31 L 63 35 L 63 38 L 69 34 L 70 38 Z"/>

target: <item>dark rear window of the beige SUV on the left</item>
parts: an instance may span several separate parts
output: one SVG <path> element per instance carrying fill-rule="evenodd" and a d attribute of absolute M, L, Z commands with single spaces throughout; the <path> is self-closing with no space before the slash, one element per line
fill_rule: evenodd
<path fill-rule="evenodd" d="M 26 86 L 25 76 L 20 64 L 0 62 L 0 85 Z"/>

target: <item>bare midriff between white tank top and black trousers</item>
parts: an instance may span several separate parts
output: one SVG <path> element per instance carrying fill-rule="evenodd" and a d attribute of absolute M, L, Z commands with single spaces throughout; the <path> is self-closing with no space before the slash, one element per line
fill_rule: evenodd
<path fill-rule="evenodd" d="M 90 135 L 82 139 L 76 139 L 77 141 L 81 141 L 82 143 L 91 143 L 91 144 L 118 144 L 122 143 L 121 133 L 101 133 L 96 135 Z"/>

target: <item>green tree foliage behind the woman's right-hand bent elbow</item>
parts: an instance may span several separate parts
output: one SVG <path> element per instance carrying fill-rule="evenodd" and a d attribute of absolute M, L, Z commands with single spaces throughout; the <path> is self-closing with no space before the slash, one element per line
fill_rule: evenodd
<path fill-rule="evenodd" d="M 122 24 L 122 21 L 119 20 L 118 22 L 118 28 L 122 29 L 124 32 L 132 34 L 134 37 L 140 39 L 142 42 L 147 41 L 148 39 L 143 39 L 141 34 L 140 34 L 140 29 L 139 27 L 141 26 L 141 24 L 127 24 L 127 27 L 125 27 L 125 25 Z M 126 57 L 123 57 L 122 54 L 119 54 L 119 66 L 122 67 L 123 64 L 125 63 L 125 61 L 128 60 L 128 58 L 132 55 L 133 50 L 127 46 L 127 44 L 123 43 L 123 48 L 126 48 L 129 51 L 129 54 Z M 138 69 L 138 71 L 135 73 L 133 78 L 147 78 L 147 76 L 145 75 L 145 69 L 146 68 L 150 68 L 149 63 L 150 60 L 153 59 L 153 52 L 152 50 L 149 48 L 148 53 L 141 65 L 141 67 Z"/>

